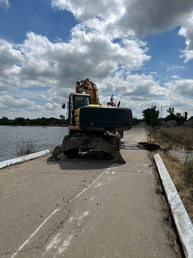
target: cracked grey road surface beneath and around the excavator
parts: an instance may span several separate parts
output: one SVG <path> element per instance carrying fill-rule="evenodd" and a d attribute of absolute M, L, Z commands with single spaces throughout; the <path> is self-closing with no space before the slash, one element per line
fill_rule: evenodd
<path fill-rule="evenodd" d="M 146 140 L 143 124 L 122 139 Z M 93 150 L 0 170 L 1 257 L 175 257 L 147 151 L 121 154 L 126 164 Z"/>

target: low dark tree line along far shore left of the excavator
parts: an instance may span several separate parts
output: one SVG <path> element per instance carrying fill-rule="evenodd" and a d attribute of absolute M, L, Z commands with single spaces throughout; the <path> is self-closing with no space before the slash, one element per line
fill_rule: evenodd
<path fill-rule="evenodd" d="M 50 117 L 50 118 L 36 118 L 36 119 L 25 119 L 24 117 L 16 117 L 15 119 L 8 119 L 3 116 L 0 118 L 0 125 L 67 125 L 67 120 L 64 115 L 59 116 L 61 119 Z"/>

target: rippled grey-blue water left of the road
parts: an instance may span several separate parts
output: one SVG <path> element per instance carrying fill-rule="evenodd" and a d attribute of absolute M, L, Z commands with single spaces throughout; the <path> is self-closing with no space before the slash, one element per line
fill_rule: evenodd
<path fill-rule="evenodd" d="M 39 151 L 53 150 L 61 145 L 64 136 L 68 134 L 68 127 L 59 126 L 0 126 L 0 162 L 16 158 L 18 142 L 28 141 L 30 138 L 37 144 Z"/>

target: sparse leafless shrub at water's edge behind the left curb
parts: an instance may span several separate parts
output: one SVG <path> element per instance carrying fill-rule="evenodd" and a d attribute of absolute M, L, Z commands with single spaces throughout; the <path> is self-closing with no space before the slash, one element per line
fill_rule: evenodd
<path fill-rule="evenodd" d="M 37 144 L 34 143 L 31 138 L 28 141 L 22 141 L 21 143 L 18 142 L 16 144 L 17 157 L 25 156 L 25 155 L 32 154 L 32 153 L 35 153 L 38 151 L 39 151 L 39 149 L 37 147 Z"/>

